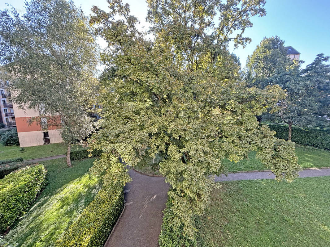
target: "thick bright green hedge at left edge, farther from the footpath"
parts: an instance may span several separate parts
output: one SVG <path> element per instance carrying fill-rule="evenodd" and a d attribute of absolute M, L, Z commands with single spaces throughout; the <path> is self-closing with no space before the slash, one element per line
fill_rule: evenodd
<path fill-rule="evenodd" d="M 12 226 L 46 185 L 43 165 L 26 166 L 0 180 L 0 233 Z"/>

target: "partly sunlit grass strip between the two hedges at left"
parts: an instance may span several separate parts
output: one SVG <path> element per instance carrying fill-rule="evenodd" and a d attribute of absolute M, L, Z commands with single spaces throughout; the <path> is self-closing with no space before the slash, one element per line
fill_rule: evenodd
<path fill-rule="evenodd" d="M 48 184 L 35 205 L 5 236 L 4 246 L 54 246 L 101 188 L 88 173 L 93 161 L 94 158 L 72 161 L 71 168 L 65 158 L 40 162 L 48 170 Z"/>

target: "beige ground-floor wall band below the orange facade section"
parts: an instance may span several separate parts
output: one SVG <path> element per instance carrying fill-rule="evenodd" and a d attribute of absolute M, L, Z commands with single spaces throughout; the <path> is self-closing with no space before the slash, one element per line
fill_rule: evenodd
<path fill-rule="evenodd" d="M 44 131 L 18 132 L 19 145 L 21 147 L 44 145 L 43 132 Z M 48 133 L 50 144 L 63 142 L 59 130 L 48 130 Z"/>

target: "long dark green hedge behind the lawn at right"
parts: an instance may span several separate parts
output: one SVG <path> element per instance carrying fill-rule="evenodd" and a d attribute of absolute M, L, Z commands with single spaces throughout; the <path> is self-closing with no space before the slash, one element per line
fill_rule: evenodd
<path fill-rule="evenodd" d="M 288 127 L 281 125 L 268 125 L 271 130 L 276 131 L 276 137 L 288 139 Z M 291 141 L 311 146 L 314 148 L 330 150 L 330 130 L 322 129 L 302 129 L 292 127 Z"/>

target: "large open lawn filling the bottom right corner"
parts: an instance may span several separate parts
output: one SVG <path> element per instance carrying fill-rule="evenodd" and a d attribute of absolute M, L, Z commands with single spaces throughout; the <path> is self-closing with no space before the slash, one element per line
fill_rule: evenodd
<path fill-rule="evenodd" d="M 199 247 L 330 246 L 330 177 L 223 182 L 196 219 Z"/>

